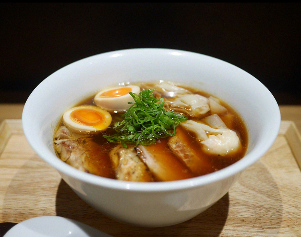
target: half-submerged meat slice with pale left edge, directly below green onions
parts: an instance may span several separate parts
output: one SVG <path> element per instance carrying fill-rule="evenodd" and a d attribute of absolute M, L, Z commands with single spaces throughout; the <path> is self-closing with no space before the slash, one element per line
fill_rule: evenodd
<path fill-rule="evenodd" d="M 172 181 L 194 177 L 168 149 L 166 143 L 135 147 L 140 159 L 153 173 L 156 181 Z"/>

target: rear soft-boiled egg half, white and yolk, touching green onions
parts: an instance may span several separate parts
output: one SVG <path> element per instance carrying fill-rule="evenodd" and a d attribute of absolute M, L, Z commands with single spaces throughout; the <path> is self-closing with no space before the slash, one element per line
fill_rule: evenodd
<path fill-rule="evenodd" d="M 99 107 L 102 107 L 111 113 L 126 111 L 132 106 L 132 104 L 128 104 L 128 102 L 135 102 L 129 92 L 138 95 L 140 87 L 137 85 L 128 85 L 104 89 L 95 95 L 94 102 Z"/>

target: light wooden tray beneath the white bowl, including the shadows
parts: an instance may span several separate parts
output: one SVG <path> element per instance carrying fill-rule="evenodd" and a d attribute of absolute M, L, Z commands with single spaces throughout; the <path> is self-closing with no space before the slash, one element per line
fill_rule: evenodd
<path fill-rule="evenodd" d="M 0 222 L 58 215 L 113 236 L 301 236 L 301 138 L 282 121 L 269 151 L 215 205 L 184 223 L 140 228 L 118 223 L 80 199 L 27 143 L 20 120 L 0 126 Z"/>

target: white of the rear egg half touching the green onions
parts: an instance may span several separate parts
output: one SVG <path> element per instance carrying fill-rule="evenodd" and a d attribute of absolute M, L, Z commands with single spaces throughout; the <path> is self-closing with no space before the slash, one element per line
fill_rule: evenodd
<path fill-rule="evenodd" d="M 124 87 L 131 88 L 132 89 L 131 92 L 133 92 L 137 95 L 140 92 L 140 87 L 137 85 L 127 85 Z M 107 97 L 107 98 L 100 97 L 101 94 L 103 94 L 106 91 L 115 90 L 115 89 L 117 90 L 120 88 L 122 88 L 122 87 L 119 86 L 119 87 L 114 87 L 114 88 L 107 88 L 107 89 L 99 91 L 97 93 L 97 95 L 95 95 L 95 97 L 94 97 L 94 103 L 96 105 L 98 105 L 99 107 L 102 107 L 111 113 L 126 111 L 129 107 L 132 106 L 132 104 L 128 104 L 128 102 L 135 102 L 130 94 L 126 94 L 126 95 L 122 95 L 122 96 L 118 96 L 118 97 Z"/>

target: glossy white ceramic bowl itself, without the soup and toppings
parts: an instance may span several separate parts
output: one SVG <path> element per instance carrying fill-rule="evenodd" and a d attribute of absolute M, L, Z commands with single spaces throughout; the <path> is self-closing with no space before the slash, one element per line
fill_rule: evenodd
<path fill-rule="evenodd" d="M 94 176 L 57 158 L 52 136 L 68 108 L 103 87 L 160 79 L 208 91 L 234 107 L 249 129 L 245 157 L 215 173 L 154 183 Z M 128 49 L 76 61 L 47 77 L 29 96 L 22 122 L 34 151 L 87 203 L 115 220 L 155 227 L 189 220 L 224 196 L 240 173 L 272 145 L 280 127 L 280 112 L 261 82 L 225 61 L 173 49 Z"/>

